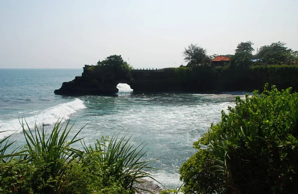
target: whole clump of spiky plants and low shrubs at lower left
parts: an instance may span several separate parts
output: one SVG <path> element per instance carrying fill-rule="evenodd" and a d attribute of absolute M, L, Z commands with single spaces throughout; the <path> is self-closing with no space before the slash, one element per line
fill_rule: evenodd
<path fill-rule="evenodd" d="M 11 154 L 5 151 L 13 142 L 1 140 L 0 193 L 133 194 L 139 178 L 152 178 L 145 171 L 151 169 L 149 161 L 141 160 L 146 153 L 142 145 L 115 136 L 102 137 L 93 147 L 83 143 L 84 151 L 77 150 L 72 145 L 81 140 L 82 129 L 69 139 L 73 125 L 58 120 L 47 133 L 21 122 L 26 145 Z"/>

